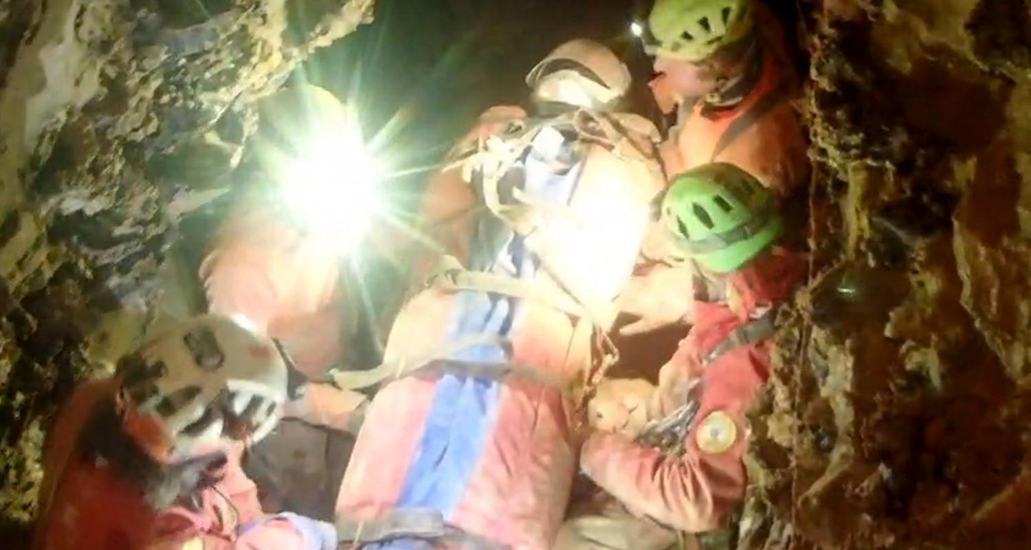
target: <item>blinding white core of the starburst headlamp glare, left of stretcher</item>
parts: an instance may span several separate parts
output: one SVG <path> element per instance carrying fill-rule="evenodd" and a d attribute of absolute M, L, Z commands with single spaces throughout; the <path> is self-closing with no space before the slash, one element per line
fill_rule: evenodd
<path fill-rule="evenodd" d="M 310 231 L 341 252 L 351 251 L 380 208 L 383 168 L 357 124 L 333 135 L 310 136 L 302 151 L 285 167 L 284 203 Z"/>

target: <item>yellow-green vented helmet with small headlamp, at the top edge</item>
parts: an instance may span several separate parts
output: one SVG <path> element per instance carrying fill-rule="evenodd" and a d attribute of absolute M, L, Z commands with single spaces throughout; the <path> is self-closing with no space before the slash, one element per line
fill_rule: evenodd
<path fill-rule="evenodd" d="M 658 0 L 648 15 L 650 54 L 701 61 L 752 30 L 749 0 Z"/>

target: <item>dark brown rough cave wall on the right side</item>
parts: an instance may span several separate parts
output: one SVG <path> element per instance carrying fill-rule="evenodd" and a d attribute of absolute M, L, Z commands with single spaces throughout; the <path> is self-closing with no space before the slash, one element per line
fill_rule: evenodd
<path fill-rule="evenodd" d="M 742 548 L 1029 548 L 1031 5 L 805 11 L 812 276 Z"/>

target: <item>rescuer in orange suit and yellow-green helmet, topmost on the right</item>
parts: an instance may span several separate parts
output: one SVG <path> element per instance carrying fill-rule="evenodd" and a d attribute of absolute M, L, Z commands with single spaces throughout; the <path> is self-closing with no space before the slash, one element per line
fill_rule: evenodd
<path fill-rule="evenodd" d="M 643 33 L 660 105 L 678 105 L 663 144 L 671 176 L 730 162 L 778 194 L 808 175 L 791 101 L 800 87 L 784 29 L 756 0 L 658 0 Z"/>

